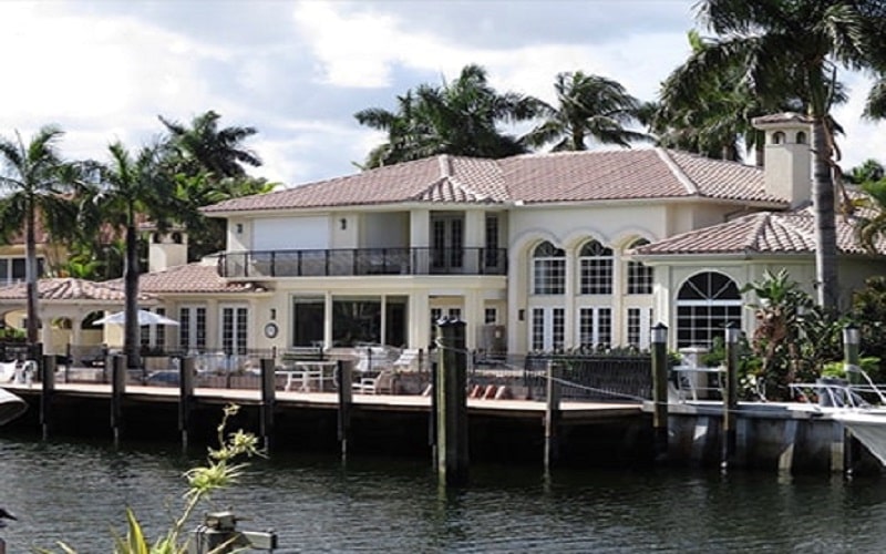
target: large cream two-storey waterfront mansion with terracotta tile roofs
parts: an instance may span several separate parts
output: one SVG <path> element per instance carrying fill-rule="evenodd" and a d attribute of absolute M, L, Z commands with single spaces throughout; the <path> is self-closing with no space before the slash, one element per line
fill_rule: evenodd
<path fill-rule="evenodd" d="M 444 316 L 468 349 L 513 353 L 647 348 L 656 322 L 672 348 L 750 331 L 745 284 L 784 267 L 812 293 L 815 276 L 808 123 L 756 123 L 765 170 L 661 148 L 440 155 L 208 206 L 227 219 L 217 257 L 186 264 L 184 233 L 151 235 L 141 291 L 181 326 L 143 341 L 420 349 Z M 847 302 L 886 258 L 837 225 Z"/>

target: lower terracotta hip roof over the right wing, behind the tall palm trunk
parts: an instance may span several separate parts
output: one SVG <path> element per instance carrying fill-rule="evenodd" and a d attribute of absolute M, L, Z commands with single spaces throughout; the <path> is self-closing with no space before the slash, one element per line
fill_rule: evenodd
<path fill-rule="evenodd" d="M 837 250 L 865 254 L 855 234 L 854 217 L 837 216 Z M 877 245 L 886 253 L 886 240 Z M 813 254 L 815 217 L 811 209 L 790 213 L 761 212 L 731 222 L 674 235 L 635 249 L 636 254 Z"/>

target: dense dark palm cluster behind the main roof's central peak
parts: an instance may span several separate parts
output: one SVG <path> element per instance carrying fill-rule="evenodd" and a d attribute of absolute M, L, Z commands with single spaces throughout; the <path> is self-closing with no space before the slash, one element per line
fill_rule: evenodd
<path fill-rule="evenodd" d="M 422 84 L 398 96 L 398 111 L 361 110 L 354 117 L 388 134 L 388 142 L 370 152 L 367 168 L 435 154 L 506 157 L 525 152 L 519 141 L 498 131 L 497 124 L 535 117 L 539 101 L 514 92 L 498 93 L 488 84 L 486 70 L 465 65 L 460 75 L 441 86 Z"/>

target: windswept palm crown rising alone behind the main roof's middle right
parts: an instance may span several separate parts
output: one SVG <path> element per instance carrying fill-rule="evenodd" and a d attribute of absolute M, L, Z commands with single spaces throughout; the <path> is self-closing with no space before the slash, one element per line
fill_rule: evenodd
<path fill-rule="evenodd" d="M 542 104 L 545 121 L 523 141 L 532 146 L 554 142 L 554 151 L 587 150 L 587 138 L 601 144 L 630 147 L 631 141 L 649 140 L 649 135 L 625 129 L 638 121 L 640 102 L 610 79 L 587 75 L 580 71 L 557 74 L 557 107 Z"/>

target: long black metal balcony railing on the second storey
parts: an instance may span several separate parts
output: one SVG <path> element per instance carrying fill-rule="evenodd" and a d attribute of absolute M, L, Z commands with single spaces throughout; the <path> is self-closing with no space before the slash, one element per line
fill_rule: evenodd
<path fill-rule="evenodd" d="M 506 275 L 505 248 L 339 248 L 223 254 L 229 278 L 363 275 Z"/>

